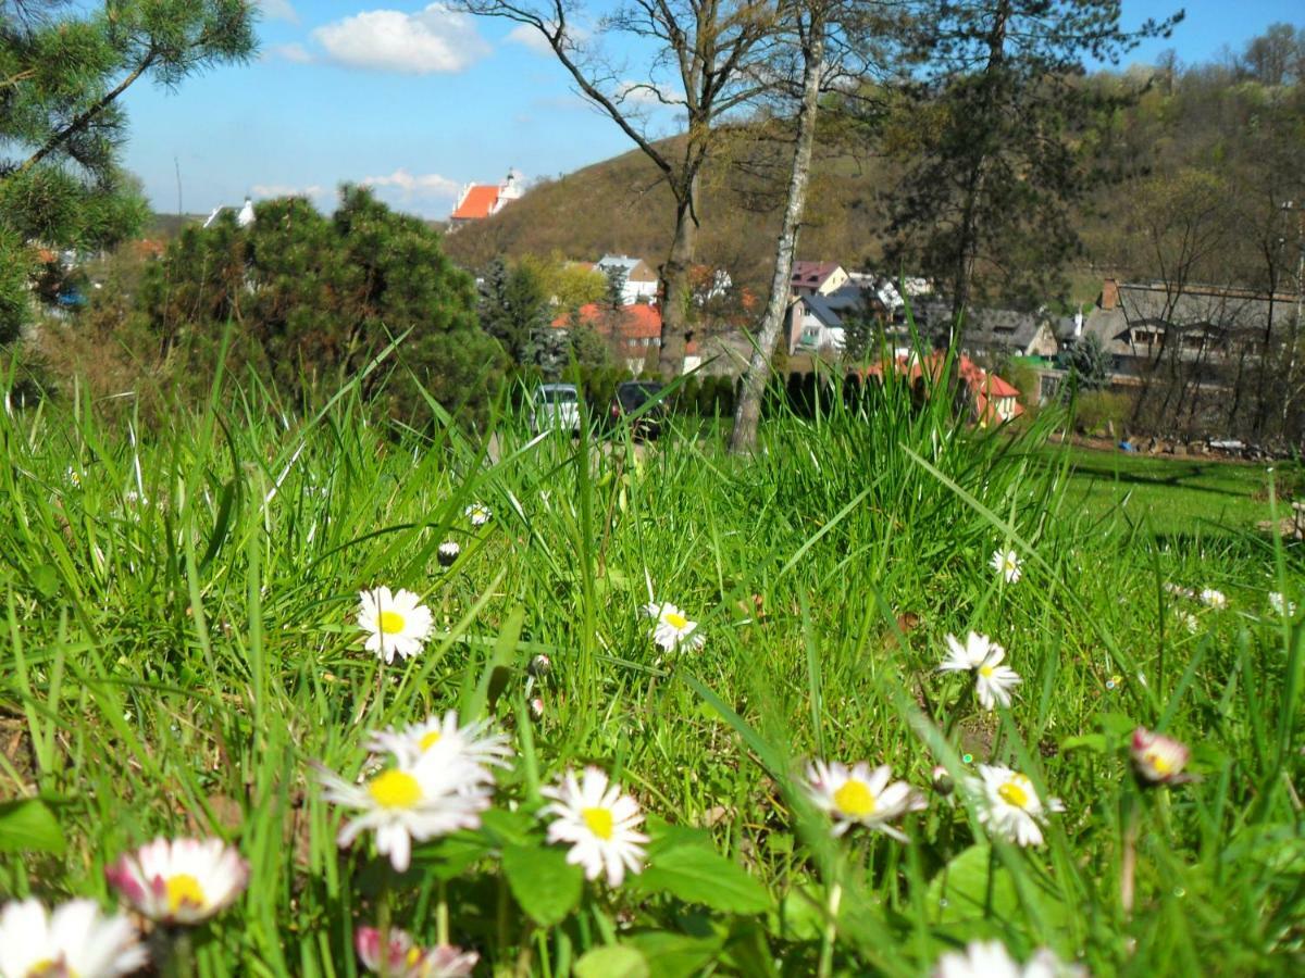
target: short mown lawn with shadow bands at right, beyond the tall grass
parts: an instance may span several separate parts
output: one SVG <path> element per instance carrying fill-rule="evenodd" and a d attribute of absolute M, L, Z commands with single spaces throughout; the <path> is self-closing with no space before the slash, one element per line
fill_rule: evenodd
<path fill-rule="evenodd" d="M 1173 536 L 1254 532 L 1272 516 L 1275 490 L 1301 486 L 1295 463 L 1137 455 L 1074 447 L 1067 502 L 1100 519 L 1118 518 L 1147 532 Z M 1279 518 L 1288 503 L 1276 501 Z"/>

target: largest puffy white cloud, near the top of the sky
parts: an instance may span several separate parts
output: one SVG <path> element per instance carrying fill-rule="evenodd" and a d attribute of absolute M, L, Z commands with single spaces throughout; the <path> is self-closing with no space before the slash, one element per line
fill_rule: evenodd
<path fill-rule="evenodd" d="M 312 37 L 337 64 L 403 74 L 461 72 L 489 52 L 472 20 L 444 4 L 420 13 L 363 10 Z"/>

